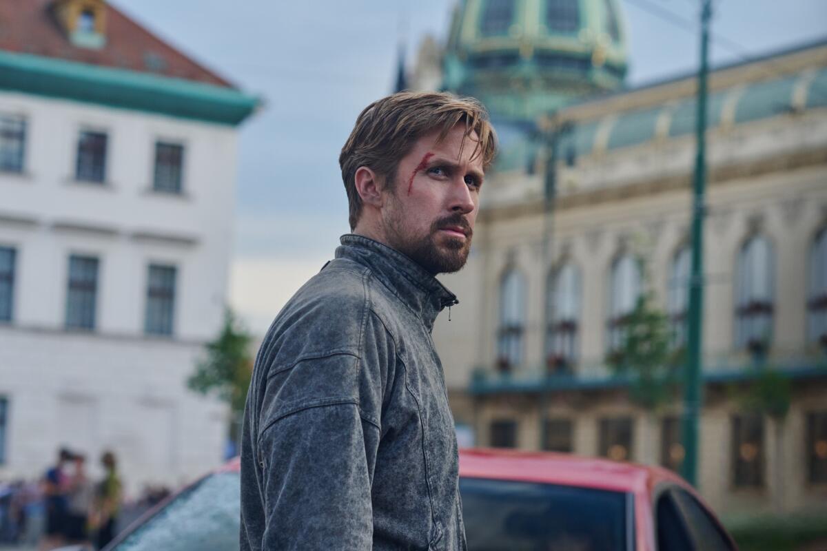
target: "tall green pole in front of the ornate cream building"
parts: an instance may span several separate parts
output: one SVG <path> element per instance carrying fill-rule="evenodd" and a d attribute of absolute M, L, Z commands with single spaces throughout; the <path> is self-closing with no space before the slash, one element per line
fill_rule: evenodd
<path fill-rule="evenodd" d="M 689 321 L 686 343 L 686 379 L 683 396 L 683 477 L 698 485 L 698 420 L 700 417 L 702 333 L 704 317 L 704 216 L 706 186 L 706 77 L 709 72 L 710 19 L 712 0 L 701 0 L 700 70 L 698 71 L 698 108 L 696 120 L 697 154 L 692 204 L 692 274 L 689 282 Z"/>

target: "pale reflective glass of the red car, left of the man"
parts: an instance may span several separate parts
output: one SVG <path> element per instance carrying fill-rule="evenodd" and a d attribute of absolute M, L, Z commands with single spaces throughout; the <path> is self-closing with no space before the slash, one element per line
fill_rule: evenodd
<path fill-rule="evenodd" d="M 240 488 L 238 473 L 205 477 L 112 551 L 235 551 L 239 548 Z"/>

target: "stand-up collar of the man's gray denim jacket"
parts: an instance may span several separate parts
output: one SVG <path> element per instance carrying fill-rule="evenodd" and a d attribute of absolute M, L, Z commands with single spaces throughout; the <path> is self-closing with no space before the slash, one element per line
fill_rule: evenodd
<path fill-rule="evenodd" d="M 459 304 L 454 293 L 398 250 L 363 235 L 342 235 L 340 240 L 342 246 L 337 247 L 336 258 L 370 268 L 385 287 L 422 318 L 428 330 L 445 306 Z"/>

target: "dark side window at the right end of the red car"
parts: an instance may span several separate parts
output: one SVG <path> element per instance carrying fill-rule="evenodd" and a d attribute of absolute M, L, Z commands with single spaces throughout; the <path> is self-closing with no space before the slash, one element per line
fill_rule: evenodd
<path fill-rule="evenodd" d="M 734 547 L 695 497 L 671 489 L 657 498 L 658 551 L 732 551 Z"/>

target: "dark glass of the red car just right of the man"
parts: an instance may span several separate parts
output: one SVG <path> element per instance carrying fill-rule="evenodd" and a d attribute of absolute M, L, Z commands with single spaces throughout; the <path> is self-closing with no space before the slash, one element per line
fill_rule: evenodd
<path fill-rule="evenodd" d="M 469 551 L 627 549 L 627 494 L 461 478 Z"/>

